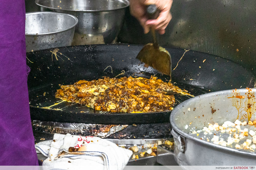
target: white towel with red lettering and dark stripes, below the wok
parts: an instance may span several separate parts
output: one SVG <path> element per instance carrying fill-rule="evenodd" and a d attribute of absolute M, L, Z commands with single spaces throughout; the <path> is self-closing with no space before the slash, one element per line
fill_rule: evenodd
<path fill-rule="evenodd" d="M 122 170 L 132 151 L 93 136 L 55 134 L 54 140 L 35 145 L 37 152 L 48 158 L 43 169 L 116 169 Z M 70 152 L 73 147 L 76 151 Z M 79 167 L 78 167 L 79 166 Z"/>

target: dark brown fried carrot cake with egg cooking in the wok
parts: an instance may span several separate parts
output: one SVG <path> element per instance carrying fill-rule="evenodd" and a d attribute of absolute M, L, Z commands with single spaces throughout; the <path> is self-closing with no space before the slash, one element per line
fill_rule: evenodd
<path fill-rule="evenodd" d="M 153 76 L 150 79 L 105 77 L 92 81 L 80 80 L 60 88 L 55 97 L 108 112 L 143 113 L 172 110 L 175 98 L 173 95 L 165 95 L 164 90 L 192 96 L 186 90 Z"/>

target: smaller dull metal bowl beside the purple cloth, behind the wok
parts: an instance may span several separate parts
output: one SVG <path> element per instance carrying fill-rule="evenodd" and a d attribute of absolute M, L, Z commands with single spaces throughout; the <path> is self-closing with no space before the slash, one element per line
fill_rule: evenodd
<path fill-rule="evenodd" d="M 78 19 L 58 12 L 26 13 L 26 51 L 70 46 Z"/>

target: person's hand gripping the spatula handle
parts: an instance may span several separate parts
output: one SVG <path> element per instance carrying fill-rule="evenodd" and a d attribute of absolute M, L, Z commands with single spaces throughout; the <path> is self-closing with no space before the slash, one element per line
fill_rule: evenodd
<path fill-rule="evenodd" d="M 160 34 L 165 33 L 165 28 L 172 19 L 170 9 L 173 0 L 130 0 L 131 15 L 140 21 L 144 28 L 144 33 L 149 32 L 149 28 L 157 30 Z M 155 4 L 161 11 L 157 19 L 148 19 L 146 16 L 146 6 Z"/>

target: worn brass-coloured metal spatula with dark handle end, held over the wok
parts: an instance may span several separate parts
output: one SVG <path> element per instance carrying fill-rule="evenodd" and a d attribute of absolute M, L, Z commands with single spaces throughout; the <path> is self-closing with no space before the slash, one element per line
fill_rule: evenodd
<path fill-rule="evenodd" d="M 146 9 L 149 19 L 156 19 L 159 16 L 160 11 L 157 9 L 156 5 L 148 5 Z M 155 30 L 151 28 L 150 31 L 153 36 L 154 43 L 146 44 L 138 53 L 136 58 L 148 66 L 151 66 L 171 77 L 172 62 L 170 53 L 157 43 Z"/>

